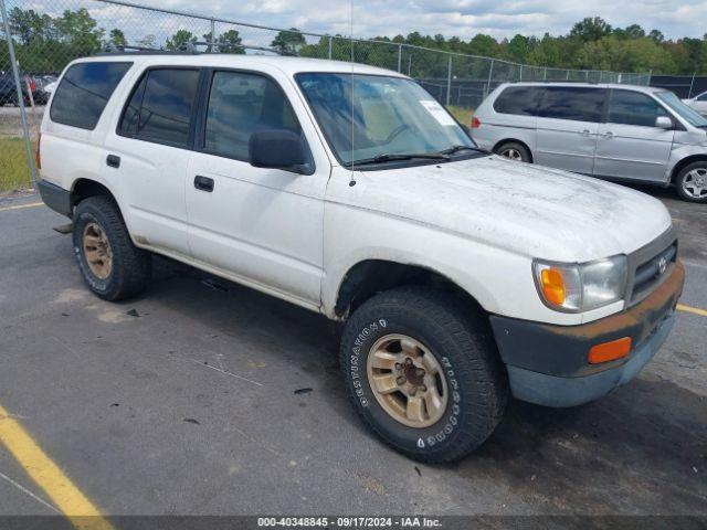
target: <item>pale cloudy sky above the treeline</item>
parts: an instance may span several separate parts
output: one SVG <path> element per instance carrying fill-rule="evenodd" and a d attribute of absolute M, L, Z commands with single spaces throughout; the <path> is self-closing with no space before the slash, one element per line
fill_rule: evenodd
<path fill-rule="evenodd" d="M 351 33 L 350 0 L 136 0 L 138 3 L 215 14 L 270 26 L 296 26 L 321 33 Z M 419 31 L 468 40 L 476 33 L 497 39 L 516 33 L 566 34 L 584 17 L 602 17 L 614 26 L 641 24 L 666 38 L 701 38 L 707 32 L 707 0 L 354 0 L 356 36 L 394 36 Z"/>

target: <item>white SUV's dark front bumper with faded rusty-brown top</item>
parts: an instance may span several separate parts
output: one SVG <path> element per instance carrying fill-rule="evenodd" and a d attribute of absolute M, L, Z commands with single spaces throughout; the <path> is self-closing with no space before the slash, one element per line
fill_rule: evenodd
<path fill-rule="evenodd" d="M 685 269 L 677 262 L 665 280 L 641 303 L 579 326 L 493 315 L 490 324 L 513 395 L 546 406 L 574 406 L 631 381 L 667 338 L 684 282 Z M 589 363 L 593 346 L 623 337 L 631 337 L 633 344 L 627 357 Z"/>

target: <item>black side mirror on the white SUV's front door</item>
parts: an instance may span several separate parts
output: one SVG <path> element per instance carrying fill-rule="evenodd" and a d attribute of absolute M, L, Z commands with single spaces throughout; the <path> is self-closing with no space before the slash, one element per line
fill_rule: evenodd
<path fill-rule="evenodd" d="M 249 142 L 251 166 L 308 173 L 309 163 L 299 135 L 287 129 L 258 130 Z"/>

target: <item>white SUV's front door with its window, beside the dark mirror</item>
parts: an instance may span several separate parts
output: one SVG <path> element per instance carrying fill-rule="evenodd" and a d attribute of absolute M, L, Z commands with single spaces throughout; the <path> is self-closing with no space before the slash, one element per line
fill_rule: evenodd
<path fill-rule="evenodd" d="M 186 182 L 194 258 L 252 287 L 319 306 L 330 168 L 298 174 L 251 166 L 251 135 L 302 134 L 297 117 L 271 77 L 235 71 L 210 77 L 203 134 Z"/>

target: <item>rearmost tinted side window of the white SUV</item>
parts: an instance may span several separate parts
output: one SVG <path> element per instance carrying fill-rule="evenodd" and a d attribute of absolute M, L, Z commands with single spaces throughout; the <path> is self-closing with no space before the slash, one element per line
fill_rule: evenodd
<path fill-rule="evenodd" d="M 52 121 L 94 129 L 113 91 L 133 63 L 80 63 L 71 66 L 56 88 Z"/>

